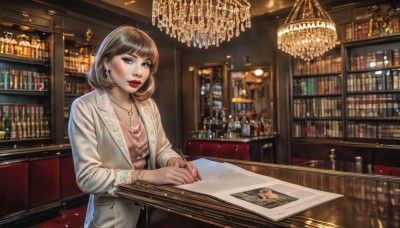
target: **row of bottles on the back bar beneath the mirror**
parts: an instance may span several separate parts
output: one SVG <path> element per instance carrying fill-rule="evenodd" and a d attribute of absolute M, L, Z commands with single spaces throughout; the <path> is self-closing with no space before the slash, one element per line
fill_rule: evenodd
<path fill-rule="evenodd" d="M 200 138 L 240 138 L 272 134 L 272 122 L 265 114 L 246 115 L 245 113 L 227 115 L 217 111 L 212 119 L 203 118 Z"/>

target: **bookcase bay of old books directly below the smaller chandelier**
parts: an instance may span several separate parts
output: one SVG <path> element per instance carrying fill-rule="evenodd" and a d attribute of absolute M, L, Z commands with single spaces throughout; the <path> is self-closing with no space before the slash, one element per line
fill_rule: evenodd
<path fill-rule="evenodd" d="M 311 62 L 294 60 L 292 116 L 294 139 L 339 139 L 342 123 L 340 48 Z"/>

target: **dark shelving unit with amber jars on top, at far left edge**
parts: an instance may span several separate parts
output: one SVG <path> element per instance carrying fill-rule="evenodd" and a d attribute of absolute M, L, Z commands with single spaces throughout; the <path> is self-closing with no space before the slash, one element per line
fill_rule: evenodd
<path fill-rule="evenodd" d="M 0 26 L 0 146 L 51 141 L 52 34 L 36 24 L 15 21 Z"/>

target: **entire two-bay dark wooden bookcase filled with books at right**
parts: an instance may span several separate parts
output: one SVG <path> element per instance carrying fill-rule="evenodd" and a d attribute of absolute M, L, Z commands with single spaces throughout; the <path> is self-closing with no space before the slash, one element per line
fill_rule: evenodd
<path fill-rule="evenodd" d="M 321 58 L 293 59 L 294 142 L 400 141 L 400 16 L 382 22 L 374 18 L 378 8 L 341 24 L 341 44 Z"/>

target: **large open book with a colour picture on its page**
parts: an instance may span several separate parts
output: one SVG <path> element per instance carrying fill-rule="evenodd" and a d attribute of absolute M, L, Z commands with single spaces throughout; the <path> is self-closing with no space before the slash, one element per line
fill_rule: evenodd
<path fill-rule="evenodd" d="M 204 158 L 193 162 L 203 180 L 177 188 L 216 197 L 273 221 L 342 196 L 256 174 L 225 162 Z"/>

